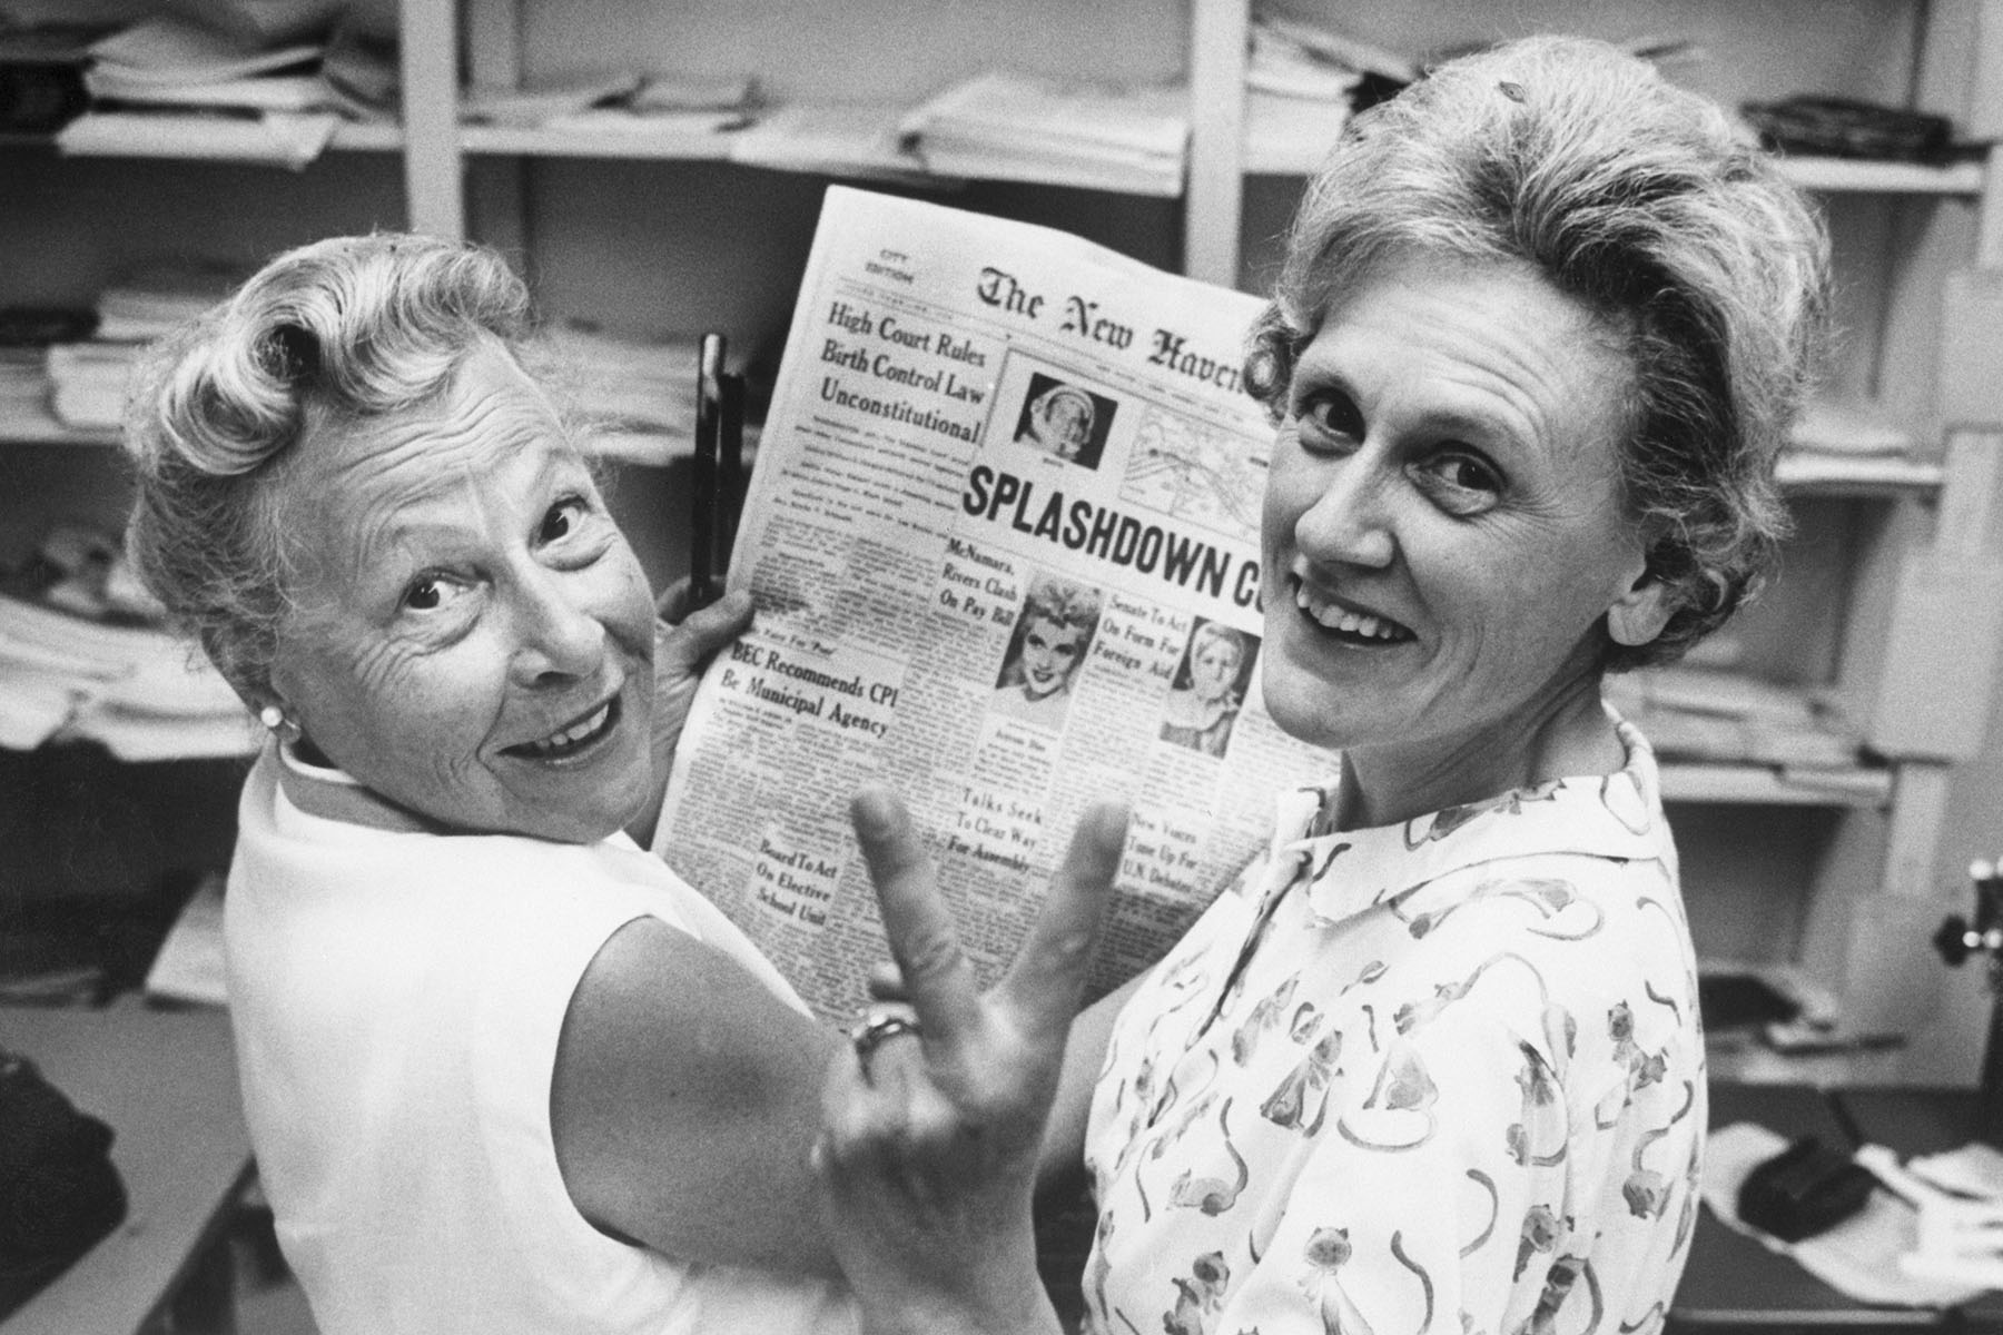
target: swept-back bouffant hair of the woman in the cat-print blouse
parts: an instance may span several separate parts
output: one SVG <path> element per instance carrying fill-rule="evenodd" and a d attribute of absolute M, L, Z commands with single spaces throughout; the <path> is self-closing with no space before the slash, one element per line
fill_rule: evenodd
<path fill-rule="evenodd" d="M 1773 464 L 1825 336 L 1821 220 L 1717 106 L 1602 42 L 1446 62 L 1350 122 L 1308 186 L 1246 362 L 1276 420 L 1330 304 L 1412 252 L 1528 264 L 1622 350 L 1620 492 L 1675 610 L 1602 662 L 1681 656 L 1787 534 Z"/>

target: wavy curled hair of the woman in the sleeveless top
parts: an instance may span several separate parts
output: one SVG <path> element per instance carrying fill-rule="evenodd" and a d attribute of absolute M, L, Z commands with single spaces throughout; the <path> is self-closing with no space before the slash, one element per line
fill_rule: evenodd
<path fill-rule="evenodd" d="M 288 610 L 286 460 L 435 402 L 483 346 L 515 354 L 529 334 L 529 292 L 499 254 L 377 234 L 280 254 L 148 354 L 126 404 L 126 550 L 238 695 L 268 683 Z"/>

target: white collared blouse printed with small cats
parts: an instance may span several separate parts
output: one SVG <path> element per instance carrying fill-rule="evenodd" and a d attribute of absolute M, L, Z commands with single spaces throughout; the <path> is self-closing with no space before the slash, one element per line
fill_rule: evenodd
<path fill-rule="evenodd" d="M 1654 759 L 1272 849 L 1122 1011 L 1088 1329 L 1654 1335 L 1697 1215 L 1697 967 Z"/>

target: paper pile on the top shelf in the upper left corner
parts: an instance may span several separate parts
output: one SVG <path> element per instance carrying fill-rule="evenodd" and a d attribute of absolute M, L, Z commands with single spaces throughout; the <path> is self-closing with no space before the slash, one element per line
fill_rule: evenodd
<path fill-rule="evenodd" d="M 324 26 L 328 6 L 290 0 L 280 8 L 290 22 L 222 30 L 152 14 L 94 42 L 84 70 L 94 106 L 56 136 L 58 148 L 292 168 L 312 162 L 341 124 L 320 74 L 326 42 L 302 32 Z"/>

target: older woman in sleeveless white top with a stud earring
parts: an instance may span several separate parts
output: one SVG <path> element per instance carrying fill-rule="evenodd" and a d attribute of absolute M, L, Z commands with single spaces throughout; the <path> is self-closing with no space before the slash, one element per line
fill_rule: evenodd
<path fill-rule="evenodd" d="M 849 1331 L 835 1037 L 621 833 L 749 604 L 657 624 L 533 334 L 489 250 L 337 238 L 134 394 L 136 566 L 270 731 L 224 941 L 278 1241 L 328 1335 Z"/>

